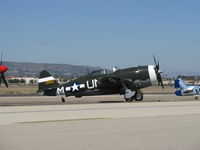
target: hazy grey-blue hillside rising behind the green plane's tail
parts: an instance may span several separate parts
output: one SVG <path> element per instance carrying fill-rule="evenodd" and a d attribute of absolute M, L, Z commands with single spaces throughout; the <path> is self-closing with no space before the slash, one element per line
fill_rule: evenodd
<path fill-rule="evenodd" d="M 88 74 L 94 70 L 101 69 L 95 66 L 75 66 L 69 64 L 48 64 L 48 63 L 28 63 L 28 62 L 3 62 L 9 70 L 6 76 L 17 77 L 38 77 L 42 70 L 49 71 L 53 76 L 72 77 Z"/>

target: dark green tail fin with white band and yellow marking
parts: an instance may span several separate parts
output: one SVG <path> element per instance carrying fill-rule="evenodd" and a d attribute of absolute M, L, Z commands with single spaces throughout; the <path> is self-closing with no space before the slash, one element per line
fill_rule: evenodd
<path fill-rule="evenodd" d="M 57 87 L 59 87 L 58 82 L 49 72 L 45 70 L 40 72 L 38 92 L 44 92 L 44 95 L 55 96 Z"/>

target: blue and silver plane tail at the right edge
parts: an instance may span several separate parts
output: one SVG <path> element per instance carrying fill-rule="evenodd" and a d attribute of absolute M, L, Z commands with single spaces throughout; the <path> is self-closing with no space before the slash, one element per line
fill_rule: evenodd
<path fill-rule="evenodd" d="M 200 96 L 200 86 L 189 86 L 181 78 L 177 78 L 174 82 L 177 96 L 190 96 L 194 95 L 195 99 Z"/>

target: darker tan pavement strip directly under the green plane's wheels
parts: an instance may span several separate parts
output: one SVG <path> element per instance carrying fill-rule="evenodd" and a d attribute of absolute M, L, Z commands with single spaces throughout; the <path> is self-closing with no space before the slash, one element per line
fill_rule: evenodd
<path fill-rule="evenodd" d="M 0 106 L 35 106 L 35 105 L 68 105 L 68 104 L 97 104 L 97 103 L 124 103 L 121 95 L 85 96 L 81 98 L 66 97 L 66 102 L 61 102 L 61 97 L 46 96 L 17 96 L 0 97 Z M 194 101 L 194 96 L 177 97 L 174 94 L 145 94 L 143 102 L 175 102 Z"/>

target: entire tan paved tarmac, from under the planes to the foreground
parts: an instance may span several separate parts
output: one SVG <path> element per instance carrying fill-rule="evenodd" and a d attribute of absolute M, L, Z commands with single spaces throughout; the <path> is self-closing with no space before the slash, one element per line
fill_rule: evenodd
<path fill-rule="evenodd" d="M 193 97 L 146 95 L 125 103 L 114 95 L 64 104 L 26 98 L 0 98 L 1 150 L 200 149 L 200 101 Z"/>

